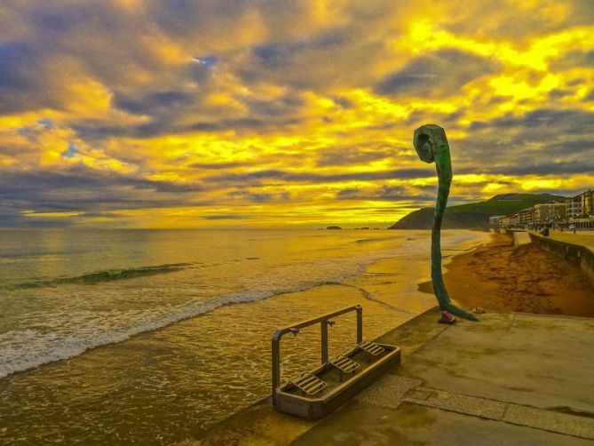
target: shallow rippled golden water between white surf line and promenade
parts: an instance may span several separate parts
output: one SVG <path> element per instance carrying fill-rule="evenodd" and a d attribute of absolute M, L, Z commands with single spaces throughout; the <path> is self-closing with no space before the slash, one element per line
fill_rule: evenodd
<path fill-rule="evenodd" d="M 365 335 L 378 338 L 395 327 L 408 326 L 408 321 L 435 307 L 433 296 L 417 291 L 417 284 L 429 276 L 430 261 L 428 248 L 418 251 L 416 246 L 428 242 L 414 234 L 407 234 L 415 237 L 408 240 L 419 239 L 410 242 L 412 251 L 405 242 L 401 255 L 376 259 L 341 283 L 320 283 L 305 291 L 281 293 L 274 299 L 218 307 L 123 342 L 2 378 L 0 402 L 5 410 L 0 410 L 0 416 L 9 430 L 0 432 L 0 439 L 4 434 L 26 431 L 31 439 L 58 438 L 65 433 L 75 438 L 81 419 L 85 420 L 84 426 L 102 423 L 95 433 L 97 440 L 115 434 L 129 438 L 127 426 L 139 419 L 143 422 L 138 438 L 158 434 L 167 442 L 201 438 L 204 430 L 229 417 L 239 417 L 249 424 L 249 418 L 244 417 L 249 412 L 244 410 L 270 394 L 270 336 L 278 326 L 337 307 L 362 304 Z M 456 237 L 451 239 L 451 250 L 445 251 L 448 256 L 480 245 L 487 238 L 480 234 L 453 235 Z M 432 319 L 437 316 L 432 314 Z M 345 319 L 333 327 L 329 337 L 331 353 L 340 353 L 352 342 L 353 324 L 354 320 Z M 241 336 L 233 336 L 234 332 Z M 303 370 L 308 363 L 320 361 L 319 330 L 304 331 L 285 342 L 283 352 L 288 361 L 282 370 L 284 378 Z M 213 357 L 216 362 L 212 362 Z M 238 370 L 238 363 L 242 364 L 241 375 L 229 374 L 229 370 Z M 56 382 L 68 383 L 59 394 L 55 393 Z M 133 397 L 115 401 L 110 396 L 114 389 Z M 75 404 L 72 394 L 76 395 Z M 50 400 L 52 410 L 46 413 L 44 408 Z M 102 409 L 86 410 L 89 401 L 98 408 L 108 407 L 108 418 L 117 423 L 99 420 Z M 272 410 L 269 404 L 264 405 Z M 70 414 L 60 431 L 51 425 L 53 414 L 58 413 L 53 408 Z M 31 420 L 36 424 L 34 429 L 29 427 Z"/>

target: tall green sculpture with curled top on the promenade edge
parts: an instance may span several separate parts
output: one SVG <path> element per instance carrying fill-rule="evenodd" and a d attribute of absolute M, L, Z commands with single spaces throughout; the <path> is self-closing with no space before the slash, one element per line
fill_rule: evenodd
<path fill-rule="evenodd" d="M 415 145 L 417 155 L 419 155 L 422 161 L 425 163 L 435 161 L 439 180 L 437 203 L 435 203 L 435 211 L 433 212 L 431 237 L 431 277 L 433 292 L 435 292 L 435 297 L 442 310 L 471 321 L 478 321 L 475 315 L 452 304 L 447 295 L 446 285 L 443 282 L 443 275 L 441 274 L 441 219 L 443 219 L 443 212 L 446 210 L 447 195 L 449 195 L 449 186 L 452 183 L 452 160 L 449 155 L 446 131 L 433 123 L 423 125 L 416 129 L 413 144 Z"/>

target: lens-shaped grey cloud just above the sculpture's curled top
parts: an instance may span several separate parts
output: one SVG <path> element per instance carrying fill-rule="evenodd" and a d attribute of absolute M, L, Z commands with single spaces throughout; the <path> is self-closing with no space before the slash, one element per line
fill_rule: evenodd
<path fill-rule="evenodd" d="M 458 50 L 441 50 L 411 60 L 405 68 L 376 84 L 378 94 L 443 98 L 463 85 L 495 72 L 493 60 Z"/>

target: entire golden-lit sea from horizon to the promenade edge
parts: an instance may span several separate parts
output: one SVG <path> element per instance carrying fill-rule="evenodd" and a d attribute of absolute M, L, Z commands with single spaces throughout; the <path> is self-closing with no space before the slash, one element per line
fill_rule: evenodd
<path fill-rule="evenodd" d="M 487 234 L 444 231 L 445 258 Z M 435 305 L 430 231 L 0 230 L 0 443 L 172 444 L 270 394 L 273 331 L 349 305 L 375 338 Z M 354 315 L 330 329 L 352 347 Z M 320 361 L 283 338 L 282 376 Z"/>

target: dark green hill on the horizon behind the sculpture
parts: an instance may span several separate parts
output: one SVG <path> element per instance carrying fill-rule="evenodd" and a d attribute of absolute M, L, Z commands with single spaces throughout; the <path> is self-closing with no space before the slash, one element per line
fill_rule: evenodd
<path fill-rule="evenodd" d="M 565 196 L 551 194 L 502 194 L 484 202 L 466 203 L 446 208 L 442 227 L 446 229 L 488 230 L 489 217 L 506 215 L 538 203 L 565 201 Z M 410 212 L 388 229 L 431 229 L 433 209 L 422 208 Z"/>

